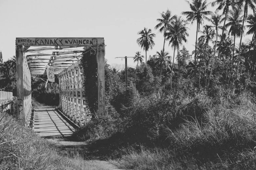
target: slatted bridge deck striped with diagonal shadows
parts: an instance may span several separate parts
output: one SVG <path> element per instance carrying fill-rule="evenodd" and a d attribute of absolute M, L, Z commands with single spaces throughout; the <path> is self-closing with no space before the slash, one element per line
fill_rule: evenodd
<path fill-rule="evenodd" d="M 67 137 L 75 128 L 70 125 L 53 107 L 36 109 L 34 131 L 42 137 Z"/>

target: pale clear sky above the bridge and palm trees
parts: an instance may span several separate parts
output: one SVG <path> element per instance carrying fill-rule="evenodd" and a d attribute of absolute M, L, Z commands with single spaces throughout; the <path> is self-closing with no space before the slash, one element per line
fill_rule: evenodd
<path fill-rule="evenodd" d="M 115 57 L 134 57 L 136 51 L 145 56 L 136 40 L 138 32 L 146 27 L 156 34 L 148 59 L 163 48 L 163 35 L 154 27 L 167 8 L 178 16 L 190 11 L 185 0 L 0 0 L 0 50 L 6 61 L 15 55 L 16 37 L 104 37 L 108 64 L 124 64 L 125 60 Z M 209 10 L 215 8 L 209 5 Z M 188 28 L 184 46 L 191 53 L 195 49 L 196 24 Z M 173 56 L 168 44 L 165 51 Z M 128 58 L 128 65 L 135 65 L 132 58 Z"/>

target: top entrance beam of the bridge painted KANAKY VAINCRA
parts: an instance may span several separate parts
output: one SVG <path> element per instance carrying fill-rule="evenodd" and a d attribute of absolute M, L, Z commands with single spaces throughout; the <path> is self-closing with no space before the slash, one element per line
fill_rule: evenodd
<path fill-rule="evenodd" d="M 104 38 L 16 38 L 24 46 L 94 46 L 104 44 Z"/>

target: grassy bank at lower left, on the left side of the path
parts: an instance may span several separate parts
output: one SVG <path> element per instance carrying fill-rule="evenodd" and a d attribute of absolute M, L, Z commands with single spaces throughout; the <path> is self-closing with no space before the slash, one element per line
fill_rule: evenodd
<path fill-rule="evenodd" d="M 106 170 L 99 161 L 86 161 L 78 153 L 64 154 L 53 143 L 0 112 L 0 169 L 2 170 Z"/>

